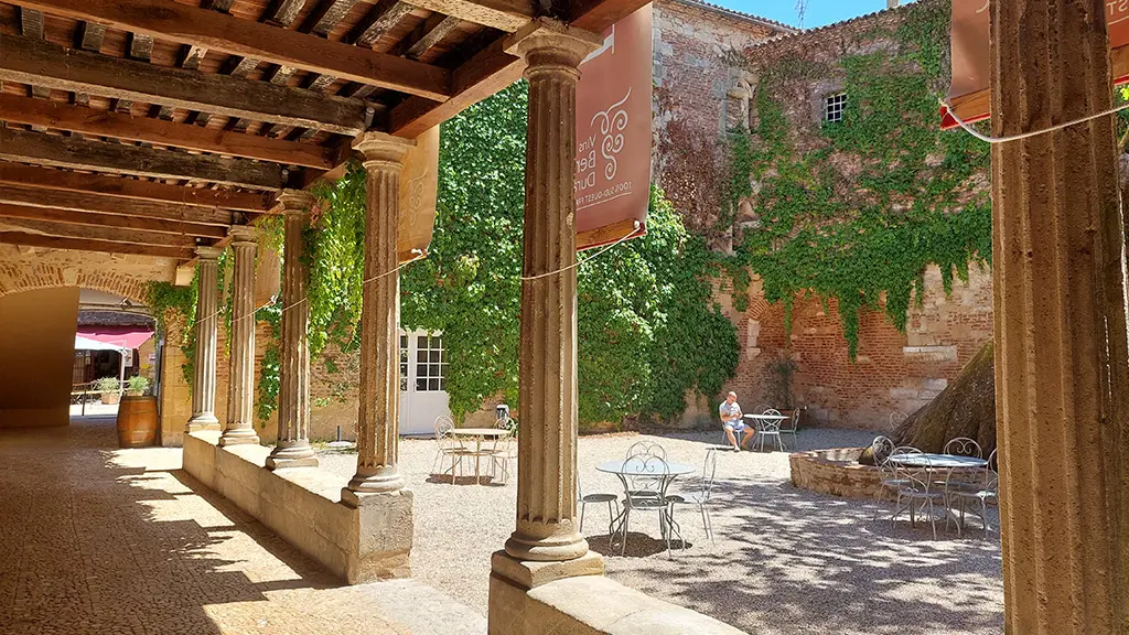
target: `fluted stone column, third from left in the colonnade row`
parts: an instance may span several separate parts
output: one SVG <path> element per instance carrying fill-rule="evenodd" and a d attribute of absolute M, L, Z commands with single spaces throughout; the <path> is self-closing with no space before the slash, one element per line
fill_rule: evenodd
<path fill-rule="evenodd" d="M 279 434 L 266 467 L 316 467 L 309 446 L 309 266 L 305 261 L 305 230 L 314 197 L 301 190 L 285 190 L 278 198 L 286 215 L 282 250 L 282 341 L 279 377 Z"/>

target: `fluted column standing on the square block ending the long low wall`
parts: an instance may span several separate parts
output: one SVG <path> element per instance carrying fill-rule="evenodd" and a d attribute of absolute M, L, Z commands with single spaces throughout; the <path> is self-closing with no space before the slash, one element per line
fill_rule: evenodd
<path fill-rule="evenodd" d="M 413 141 L 368 132 L 353 147 L 365 156 L 365 288 L 360 315 L 360 408 L 357 473 L 342 492 L 396 492 L 400 454 L 400 273 L 396 272 L 400 174 Z"/>

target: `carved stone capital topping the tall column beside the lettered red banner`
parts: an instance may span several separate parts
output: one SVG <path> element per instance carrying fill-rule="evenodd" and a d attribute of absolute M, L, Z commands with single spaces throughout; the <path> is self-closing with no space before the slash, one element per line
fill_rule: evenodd
<path fill-rule="evenodd" d="M 603 44 L 599 34 L 542 17 L 510 35 L 505 47 L 526 61 L 526 77 L 554 69 L 579 76 L 580 62 Z"/>

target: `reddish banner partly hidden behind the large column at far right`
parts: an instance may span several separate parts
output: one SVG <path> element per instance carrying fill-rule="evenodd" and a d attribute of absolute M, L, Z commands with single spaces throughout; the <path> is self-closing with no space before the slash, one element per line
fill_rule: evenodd
<path fill-rule="evenodd" d="M 953 0 L 953 28 L 949 35 L 953 82 L 948 90 L 948 103 L 953 108 L 949 112 L 947 107 L 942 106 L 943 129 L 960 125 L 956 123 L 956 118 L 971 123 L 990 116 L 989 1 Z M 1113 84 L 1127 84 L 1129 82 L 1129 0 L 1105 0 L 1105 28 L 1110 35 Z"/>

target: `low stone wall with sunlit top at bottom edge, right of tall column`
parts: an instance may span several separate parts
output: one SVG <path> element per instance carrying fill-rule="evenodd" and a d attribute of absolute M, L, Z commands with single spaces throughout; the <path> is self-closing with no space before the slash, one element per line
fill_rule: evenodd
<path fill-rule="evenodd" d="M 490 576 L 489 635 L 742 635 L 721 621 L 628 589 L 603 575 L 580 575 L 531 590 Z"/>

